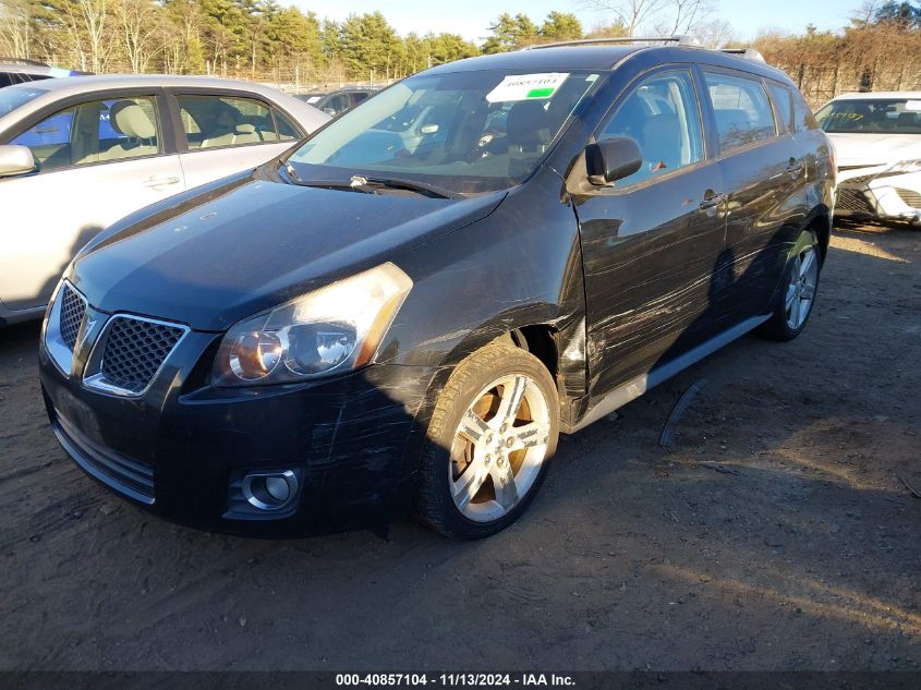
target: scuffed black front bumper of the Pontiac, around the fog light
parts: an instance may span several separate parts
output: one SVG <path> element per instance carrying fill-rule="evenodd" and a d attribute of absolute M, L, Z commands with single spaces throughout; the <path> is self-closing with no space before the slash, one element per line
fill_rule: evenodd
<path fill-rule="evenodd" d="M 168 520 L 225 533 L 303 536 L 379 526 L 403 511 L 434 368 L 375 365 L 311 385 L 196 387 L 217 336 L 192 336 L 169 380 L 138 399 L 86 388 L 43 343 L 52 428 L 88 474 Z M 247 473 L 289 470 L 300 493 L 284 510 L 256 510 L 240 494 Z"/>

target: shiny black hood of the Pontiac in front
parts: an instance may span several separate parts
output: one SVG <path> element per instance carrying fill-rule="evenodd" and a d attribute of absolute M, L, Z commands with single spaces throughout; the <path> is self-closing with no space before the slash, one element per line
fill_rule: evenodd
<path fill-rule="evenodd" d="M 70 280 L 102 312 L 220 331 L 492 213 L 463 199 L 306 187 L 234 175 L 120 221 L 74 261 Z M 405 267 L 403 267 L 405 269 Z"/>

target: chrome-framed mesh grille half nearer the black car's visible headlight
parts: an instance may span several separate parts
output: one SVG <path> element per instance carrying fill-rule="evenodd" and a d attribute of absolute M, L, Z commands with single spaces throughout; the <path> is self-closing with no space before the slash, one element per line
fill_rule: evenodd
<path fill-rule="evenodd" d="M 97 387 L 143 392 L 186 332 L 183 326 L 132 316 L 114 316 L 104 337 Z"/>

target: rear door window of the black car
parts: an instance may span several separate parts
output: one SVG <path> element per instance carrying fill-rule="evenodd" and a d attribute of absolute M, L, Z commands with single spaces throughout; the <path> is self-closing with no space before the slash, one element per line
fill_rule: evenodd
<path fill-rule="evenodd" d="M 775 135 L 774 114 L 761 82 L 722 72 L 704 72 L 704 80 L 722 153 Z"/>

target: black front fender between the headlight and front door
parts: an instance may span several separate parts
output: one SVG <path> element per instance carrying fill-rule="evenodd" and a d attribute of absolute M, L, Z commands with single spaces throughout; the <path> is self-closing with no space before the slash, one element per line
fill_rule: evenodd
<path fill-rule="evenodd" d="M 575 216 L 542 169 L 488 217 L 395 258 L 413 289 L 378 360 L 453 366 L 513 328 L 543 324 L 565 348 L 584 328 Z M 569 370 L 579 375 L 584 370 Z M 578 387 L 578 386 L 577 386 Z"/>

